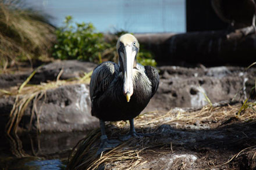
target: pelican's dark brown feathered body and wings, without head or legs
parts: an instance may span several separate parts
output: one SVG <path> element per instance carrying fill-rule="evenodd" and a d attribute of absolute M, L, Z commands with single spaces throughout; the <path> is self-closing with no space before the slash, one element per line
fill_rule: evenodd
<path fill-rule="evenodd" d="M 138 64 L 134 77 L 134 92 L 127 102 L 123 95 L 123 76 L 118 64 L 105 62 L 95 68 L 92 76 L 91 114 L 104 121 L 130 120 L 136 117 L 150 102 L 158 86 L 158 73 L 151 66 Z M 99 78 L 105 77 L 105 78 Z M 97 79 L 93 81 L 93 79 Z M 151 79 L 150 79 L 151 78 Z M 95 83 L 97 89 L 95 89 Z"/>

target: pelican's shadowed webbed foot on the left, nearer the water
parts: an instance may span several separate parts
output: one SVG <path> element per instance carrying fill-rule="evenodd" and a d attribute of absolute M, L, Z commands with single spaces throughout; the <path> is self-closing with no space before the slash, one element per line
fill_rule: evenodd
<path fill-rule="evenodd" d="M 101 144 L 99 146 L 99 149 L 96 153 L 96 155 L 101 154 L 103 151 L 111 150 L 118 146 L 120 144 L 119 140 L 111 139 L 108 140 L 108 137 L 106 135 L 101 136 Z"/>

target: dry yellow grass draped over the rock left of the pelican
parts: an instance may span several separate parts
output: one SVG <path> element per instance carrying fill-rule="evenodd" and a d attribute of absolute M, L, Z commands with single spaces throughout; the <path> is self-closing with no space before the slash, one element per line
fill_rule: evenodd
<path fill-rule="evenodd" d="M 40 68 L 40 67 L 38 67 Z M 61 74 L 63 73 L 63 70 L 60 71 L 58 74 L 56 81 L 49 81 L 47 83 L 41 83 L 40 85 L 28 85 L 27 83 L 30 81 L 30 79 L 33 77 L 33 75 L 38 70 L 35 69 L 33 73 L 26 79 L 26 81 L 23 82 L 22 85 L 19 87 L 13 87 L 10 89 L 10 91 L 1 90 L 0 96 L 3 95 L 11 95 L 16 96 L 15 103 L 13 104 L 12 111 L 9 115 L 9 121 L 6 125 L 6 132 L 9 134 L 10 132 L 17 133 L 17 127 L 19 126 L 20 120 L 22 120 L 23 114 L 26 111 L 27 106 L 29 106 L 30 103 L 32 103 L 32 112 L 31 112 L 31 120 L 30 120 L 30 128 L 34 115 L 37 118 L 37 128 L 38 131 L 40 131 L 40 124 L 39 124 L 39 118 L 41 113 L 41 107 L 37 107 L 37 102 L 41 99 L 46 99 L 46 91 L 49 89 L 55 89 L 59 86 L 63 85 L 72 85 L 72 84 L 81 84 L 90 82 L 90 76 L 92 74 L 92 71 L 88 74 L 84 74 L 84 77 L 81 77 L 79 79 L 75 80 L 60 80 Z"/>

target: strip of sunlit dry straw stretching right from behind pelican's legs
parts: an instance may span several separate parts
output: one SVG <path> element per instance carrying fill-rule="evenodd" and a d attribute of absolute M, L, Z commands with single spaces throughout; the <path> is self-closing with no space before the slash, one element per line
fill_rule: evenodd
<path fill-rule="evenodd" d="M 245 104 L 246 103 L 246 104 Z M 250 109 L 247 109 L 250 108 Z M 201 110 L 197 111 L 184 111 L 184 110 L 170 110 L 168 113 L 163 114 L 162 116 L 157 116 L 159 113 L 155 113 L 155 117 L 152 119 L 144 118 L 144 115 L 141 115 L 141 120 L 137 126 L 145 125 L 159 125 L 161 124 L 176 124 L 180 122 L 182 124 L 195 124 L 200 122 L 211 122 L 212 120 L 228 120 L 229 118 L 235 117 L 240 121 L 251 121 L 256 118 L 256 103 L 244 102 L 242 106 L 230 106 L 227 107 L 218 106 L 205 106 Z M 149 115 L 145 115 L 148 117 Z"/>

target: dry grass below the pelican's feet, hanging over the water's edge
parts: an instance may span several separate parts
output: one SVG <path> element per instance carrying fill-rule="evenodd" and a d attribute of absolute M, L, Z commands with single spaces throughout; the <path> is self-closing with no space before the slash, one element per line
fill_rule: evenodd
<path fill-rule="evenodd" d="M 100 135 L 99 129 L 96 129 L 74 147 L 67 169 L 98 169 L 106 162 L 113 164 L 118 162 L 115 164 L 116 169 L 132 169 L 147 162 L 139 155 L 142 151 L 165 145 L 165 143 L 149 143 L 154 137 L 141 138 L 139 141 L 131 138 L 96 157 Z"/>

